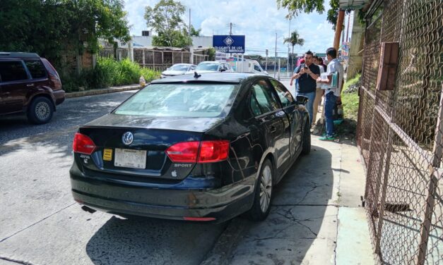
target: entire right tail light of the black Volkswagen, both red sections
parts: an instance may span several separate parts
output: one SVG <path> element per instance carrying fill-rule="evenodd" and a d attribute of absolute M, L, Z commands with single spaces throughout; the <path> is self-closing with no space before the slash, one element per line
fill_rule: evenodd
<path fill-rule="evenodd" d="M 172 162 L 213 163 L 228 158 L 229 141 L 179 142 L 166 149 Z"/>

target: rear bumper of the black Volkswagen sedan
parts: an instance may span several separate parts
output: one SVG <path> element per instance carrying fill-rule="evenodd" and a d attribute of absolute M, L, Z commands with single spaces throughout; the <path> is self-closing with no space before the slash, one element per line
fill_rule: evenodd
<path fill-rule="evenodd" d="M 254 177 L 218 189 L 152 187 L 146 183 L 90 178 L 73 166 L 70 171 L 76 202 L 110 214 L 185 220 L 227 221 L 252 207 Z M 204 182 L 204 178 L 201 179 Z M 198 220 L 197 220 L 198 221 Z"/>

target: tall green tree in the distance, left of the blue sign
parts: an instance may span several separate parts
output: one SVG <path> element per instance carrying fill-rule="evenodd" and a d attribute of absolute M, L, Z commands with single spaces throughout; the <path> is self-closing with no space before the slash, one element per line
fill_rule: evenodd
<path fill-rule="evenodd" d="M 192 44 L 186 34 L 187 25 L 182 19 L 184 11 L 185 7 L 174 0 L 160 0 L 154 8 L 146 6 L 146 25 L 152 27 L 158 35 L 153 37 L 153 45 L 187 47 Z"/>

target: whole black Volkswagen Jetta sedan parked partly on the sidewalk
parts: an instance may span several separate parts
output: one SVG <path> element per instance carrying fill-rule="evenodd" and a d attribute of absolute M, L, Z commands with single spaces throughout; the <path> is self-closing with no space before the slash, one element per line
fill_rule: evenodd
<path fill-rule="evenodd" d="M 263 220 L 273 186 L 310 151 L 306 101 L 267 75 L 155 80 L 78 128 L 73 197 L 122 216 Z"/>

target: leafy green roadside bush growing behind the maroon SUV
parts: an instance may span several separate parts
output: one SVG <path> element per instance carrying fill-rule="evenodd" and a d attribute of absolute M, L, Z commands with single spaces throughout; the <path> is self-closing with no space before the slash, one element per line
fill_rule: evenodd
<path fill-rule="evenodd" d="M 146 82 L 160 77 L 160 72 L 148 68 L 141 68 L 137 63 L 124 59 L 116 61 L 114 58 L 98 58 L 95 68 L 83 70 L 81 75 L 61 75 L 61 82 L 66 92 L 92 90 L 114 85 L 138 84 L 143 75 Z"/>

